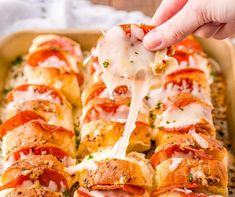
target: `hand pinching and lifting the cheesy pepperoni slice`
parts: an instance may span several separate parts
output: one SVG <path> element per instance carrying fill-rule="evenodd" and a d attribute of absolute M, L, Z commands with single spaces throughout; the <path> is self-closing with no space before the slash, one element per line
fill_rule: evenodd
<path fill-rule="evenodd" d="M 168 47 L 191 33 L 224 39 L 235 33 L 235 0 L 163 0 L 144 38 L 149 50 Z"/>

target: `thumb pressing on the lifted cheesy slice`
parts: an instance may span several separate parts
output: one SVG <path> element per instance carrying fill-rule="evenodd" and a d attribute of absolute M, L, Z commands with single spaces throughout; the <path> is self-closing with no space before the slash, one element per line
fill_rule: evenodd
<path fill-rule="evenodd" d="M 144 37 L 144 46 L 149 50 L 166 48 L 182 40 L 204 24 L 202 8 L 197 1 L 188 3 L 171 19 L 156 27 Z"/>

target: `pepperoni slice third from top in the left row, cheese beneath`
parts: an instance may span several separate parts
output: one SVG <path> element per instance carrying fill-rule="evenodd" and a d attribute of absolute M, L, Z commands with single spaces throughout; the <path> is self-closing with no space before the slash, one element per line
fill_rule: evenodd
<path fill-rule="evenodd" d="M 8 96 L 7 96 L 7 101 L 12 102 L 14 100 L 14 91 L 20 91 L 20 92 L 26 92 L 29 90 L 30 87 L 33 87 L 34 93 L 38 94 L 45 94 L 48 93 L 50 94 L 54 99 L 58 99 L 61 104 L 63 104 L 63 98 L 60 95 L 60 93 L 47 85 L 34 85 L 34 84 L 24 84 L 21 86 L 16 87 L 13 91 L 11 91 Z"/>

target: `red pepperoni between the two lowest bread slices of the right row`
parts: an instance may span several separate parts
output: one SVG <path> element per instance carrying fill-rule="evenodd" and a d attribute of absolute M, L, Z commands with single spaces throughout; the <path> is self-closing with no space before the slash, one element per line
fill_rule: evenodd
<path fill-rule="evenodd" d="M 163 150 L 160 150 L 156 153 L 154 153 L 151 157 L 151 164 L 154 168 L 161 162 L 172 158 L 172 156 L 176 153 L 180 152 L 183 154 L 192 153 L 192 157 L 200 158 L 200 159 L 213 159 L 212 155 L 208 155 L 204 152 L 204 150 L 201 149 L 195 149 L 191 147 L 181 147 L 180 144 L 173 144 L 172 146 L 169 146 Z"/>

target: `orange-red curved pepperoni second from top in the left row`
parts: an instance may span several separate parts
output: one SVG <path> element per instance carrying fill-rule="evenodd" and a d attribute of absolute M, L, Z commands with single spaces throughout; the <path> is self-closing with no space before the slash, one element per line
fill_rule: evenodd
<path fill-rule="evenodd" d="M 69 67 L 69 63 L 65 55 L 59 49 L 56 49 L 53 47 L 40 49 L 30 54 L 29 58 L 27 59 L 27 64 L 32 67 L 38 67 L 40 63 L 44 62 L 45 60 L 47 60 L 49 57 L 52 57 L 52 56 L 55 56 L 59 60 L 65 62 L 67 66 Z"/>

